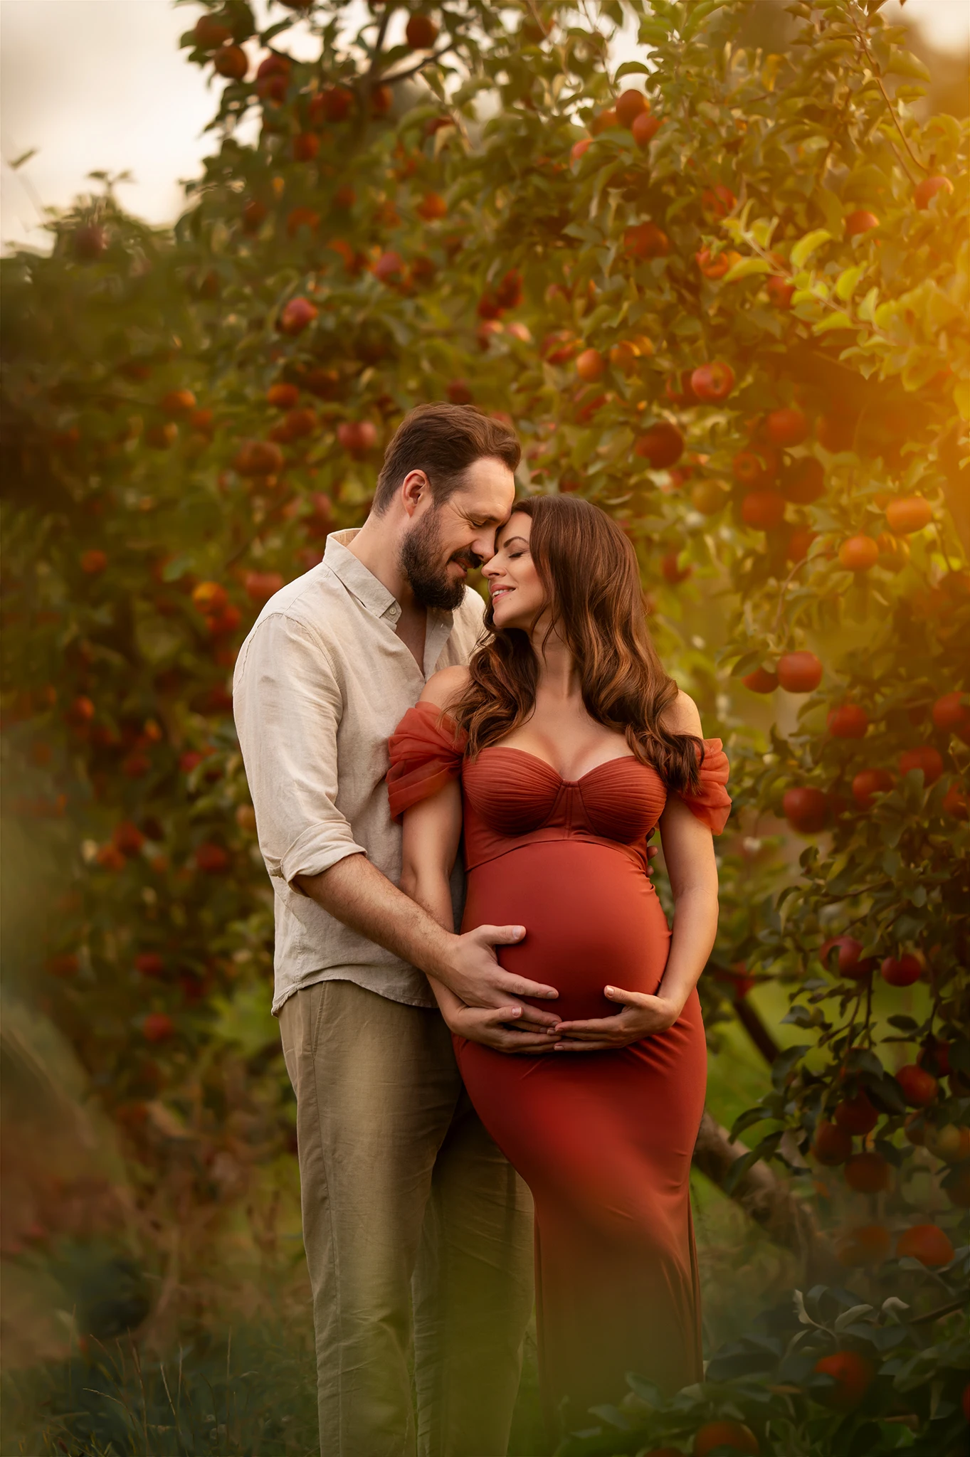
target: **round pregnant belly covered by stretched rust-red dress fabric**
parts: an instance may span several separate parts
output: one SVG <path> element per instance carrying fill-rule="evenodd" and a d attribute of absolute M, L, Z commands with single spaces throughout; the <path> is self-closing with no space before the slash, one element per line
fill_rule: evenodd
<path fill-rule="evenodd" d="M 555 986 L 536 1001 L 564 1020 L 612 1017 L 606 985 L 655 992 L 670 931 L 657 893 L 620 851 L 580 839 L 523 845 L 468 877 L 462 930 L 524 925 L 518 946 L 498 949 L 501 965 Z"/>

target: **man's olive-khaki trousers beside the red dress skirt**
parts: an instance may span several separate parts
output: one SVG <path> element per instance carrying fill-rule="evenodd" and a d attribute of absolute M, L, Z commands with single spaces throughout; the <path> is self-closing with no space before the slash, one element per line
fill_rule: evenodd
<path fill-rule="evenodd" d="M 444 1021 L 319 982 L 284 1002 L 280 1029 L 322 1457 L 505 1457 L 532 1201 L 468 1099 Z"/>

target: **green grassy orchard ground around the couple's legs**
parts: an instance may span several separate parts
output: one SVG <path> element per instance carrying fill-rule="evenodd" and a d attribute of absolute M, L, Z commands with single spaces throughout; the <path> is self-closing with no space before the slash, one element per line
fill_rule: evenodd
<path fill-rule="evenodd" d="M 728 1027 L 711 1059 L 711 1110 L 730 1123 L 765 1084 L 757 1053 L 740 1029 Z M 163 1285 L 167 1295 L 137 1338 L 79 1342 L 71 1333 L 45 1359 L 26 1342 L 22 1362 L 3 1377 L 3 1457 L 318 1457 L 313 1329 L 291 1174 L 287 1169 L 267 1195 L 277 1238 L 267 1240 L 268 1225 L 253 1209 L 223 1222 L 218 1241 L 200 1243 L 178 1282 Z M 785 1252 L 698 1176 L 693 1203 L 709 1352 L 794 1284 L 795 1272 Z M 76 1252 L 74 1262 L 83 1254 Z M 122 1265 L 105 1259 L 103 1269 Z M 52 1305 L 54 1268 L 51 1254 L 33 1257 L 35 1289 Z M 92 1271 L 89 1249 L 89 1279 Z M 23 1278 L 25 1262 L 10 1273 Z M 108 1308 L 117 1298 L 118 1291 L 103 1291 Z M 70 1291 L 60 1300 L 70 1307 Z M 70 1314 L 54 1314 L 71 1329 Z M 527 1342 L 508 1457 L 546 1457 L 535 1339 Z"/>

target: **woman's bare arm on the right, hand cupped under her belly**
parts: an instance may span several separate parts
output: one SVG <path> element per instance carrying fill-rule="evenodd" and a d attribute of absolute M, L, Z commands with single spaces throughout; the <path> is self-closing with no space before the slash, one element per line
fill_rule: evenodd
<path fill-rule="evenodd" d="M 680 694 L 666 726 L 701 737 L 701 715 L 686 694 Z M 674 898 L 674 924 L 664 975 L 655 995 L 606 986 L 604 995 L 619 1002 L 616 1017 L 564 1021 L 558 1052 L 599 1052 L 625 1048 L 631 1042 L 666 1032 L 685 1008 L 706 966 L 718 930 L 718 867 L 714 836 L 677 794 L 667 798 L 660 816 L 660 838 Z"/>

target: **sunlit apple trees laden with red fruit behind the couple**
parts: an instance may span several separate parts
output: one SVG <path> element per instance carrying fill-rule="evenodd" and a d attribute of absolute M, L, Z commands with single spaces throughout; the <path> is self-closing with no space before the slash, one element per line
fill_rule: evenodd
<path fill-rule="evenodd" d="M 772 1062 L 736 1131 L 843 1265 L 903 1289 L 915 1240 L 966 1289 L 967 127 L 923 115 L 880 9 L 791 4 L 759 50 L 746 0 L 638 0 L 642 60 L 616 67 L 610 0 L 462 0 L 390 45 L 393 7 L 256 34 L 210 4 L 184 44 L 221 87 L 213 153 L 176 227 L 100 179 L 50 255 L 4 259 L 4 960 L 114 1120 L 143 1249 L 185 1227 L 201 1259 L 294 1147 L 236 650 L 364 519 L 403 411 L 450 398 L 514 421 L 523 491 L 623 525 L 728 743 L 705 1017 Z M 797 1043 L 759 1033 L 752 989 L 789 998 Z M 858 1340 L 880 1394 L 845 1440 L 770 1362 L 760 1415 L 705 1387 L 664 1431 L 737 1397 L 763 1450 L 950 1442 L 891 1342 Z M 967 1367 L 948 1340 L 932 1390 Z"/>

